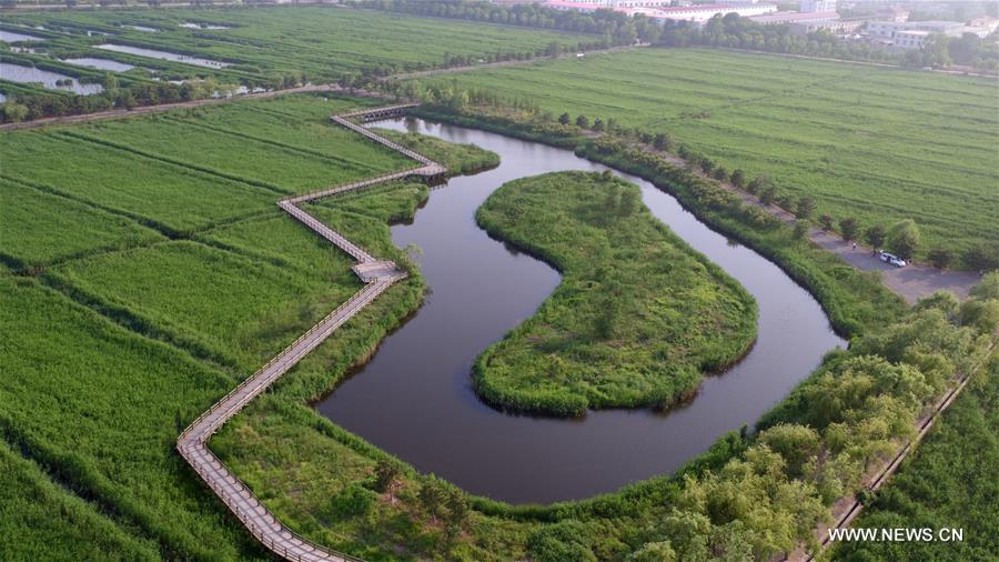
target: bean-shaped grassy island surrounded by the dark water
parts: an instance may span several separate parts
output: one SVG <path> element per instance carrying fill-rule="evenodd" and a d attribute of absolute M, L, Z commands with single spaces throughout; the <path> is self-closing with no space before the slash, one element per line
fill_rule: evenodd
<path fill-rule="evenodd" d="M 476 389 L 493 404 L 559 415 L 667 407 L 756 339 L 753 297 L 609 173 L 516 180 L 476 220 L 563 273 L 538 312 L 477 359 Z"/>

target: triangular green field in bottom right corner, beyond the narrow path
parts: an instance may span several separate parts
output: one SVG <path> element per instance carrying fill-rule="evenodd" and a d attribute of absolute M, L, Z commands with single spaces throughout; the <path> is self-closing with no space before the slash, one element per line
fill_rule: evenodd
<path fill-rule="evenodd" d="M 953 542 L 852 542 L 836 560 L 991 560 L 999 552 L 999 354 L 955 401 L 855 528 L 962 529 Z"/>

